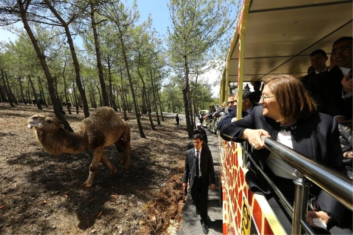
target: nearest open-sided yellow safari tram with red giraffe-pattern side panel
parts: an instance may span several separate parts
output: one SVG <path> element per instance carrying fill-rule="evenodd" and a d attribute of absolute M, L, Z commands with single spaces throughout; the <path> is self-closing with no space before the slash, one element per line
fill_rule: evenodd
<path fill-rule="evenodd" d="M 323 49 L 329 56 L 336 39 L 353 36 L 352 19 L 353 1 L 349 0 L 244 0 L 221 78 L 220 105 L 227 102 L 229 83 L 238 82 L 238 100 L 242 100 L 243 82 L 276 74 L 306 75 L 312 51 Z M 237 117 L 241 117 L 241 102 Z M 348 177 L 265 139 L 267 148 L 303 179 L 353 209 L 353 181 Z M 249 189 L 246 162 L 252 158 L 246 146 L 219 137 L 223 234 L 287 234 L 266 198 Z M 327 178 L 331 180 L 324 180 Z M 291 234 L 315 234 L 305 222 L 306 190 L 296 186 L 294 206 L 283 202 L 293 214 Z M 276 193 L 281 198 L 281 193 Z"/>

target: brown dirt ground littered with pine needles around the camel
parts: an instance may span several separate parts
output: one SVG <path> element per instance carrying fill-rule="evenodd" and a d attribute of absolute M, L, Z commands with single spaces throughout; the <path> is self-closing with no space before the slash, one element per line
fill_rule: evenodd
<path fill-rule="evenodd" d="M 176 234 L 185 202 L 184 153 L 190 141 L 184 127 L 175 127 L 174 119 L 165 117 L 152 131 L 143 116 L 147 139 L 142 139 L 135 114 L 128 114 L 130 168 L 122 168 L 122 153 L 110 146 L 106 154 L 119 173 L 111 177 L 100 164 L 93 187 L 86 189 L 82 183 L 92 153 L 46 153 L 34 130 L 26 127 L 36 113 L 53 112 L 0 103 L 0 234 Z M 74 130 L 84 118 L 82 110 L 66 117 Z"/>

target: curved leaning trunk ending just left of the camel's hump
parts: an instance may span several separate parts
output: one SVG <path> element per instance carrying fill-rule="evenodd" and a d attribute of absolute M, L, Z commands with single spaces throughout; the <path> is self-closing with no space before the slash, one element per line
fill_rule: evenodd
<path fill-rule="evenodd" d="M 70 52 L 71 52 L 71 55 L 72 55 L 73 66 L 75 68 L 76 84 L 77 84 L 77 88 L 78 88 L 78 91 L 80 92 L 80 96 L 81 96 L 81 99 L 82 99 L 83 112 L 84 112 L 85 118 L 87 118 L 87 117 L 89 117 L 88 103 L 87 103 L 86 94 L 85 94 L 85 91 L 83 89 L 82 82 L 81 82 L 81 79 L 80 79 L 80 66 L 79 66 L 79 63 L 78 63 L 75 47 L 73 45 L 73 40 L 72 40 L 72 37 L 71 37 L 70 29 L 68 27 L 68 24 L 65 22 L 65 20 L 61 18 L 60 14 L 50 4 L 50 1 L 49 0 L 44 0 L 44 2 L 48 6 L 50 11 L 52 11 L 52 13 L 55 15 L 55 17 L 58 18 L 58 20 L 60 21 L 62 27 L 64 27 L 64 29 L 65 29 L 65 34 L 66 34 L 66 37 L 67 37 L 67 43 L 68 43 L 68 45 L 70 47 Z"/>

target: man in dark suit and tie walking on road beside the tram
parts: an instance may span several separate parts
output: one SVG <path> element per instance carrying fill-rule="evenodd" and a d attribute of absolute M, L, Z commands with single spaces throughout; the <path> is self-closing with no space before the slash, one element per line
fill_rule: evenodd
<path fill-rule="evenodd" d="M 211 190 L 214 190 L 216 187 L 216 178 L 211 151 L 202 148 L 202 143 L 202 136 L 200 134 L 196 134 L 193 137 L 193 144 L 195 148 L 189 149 L 185 153 L 183 187 L 184 190 L 186 190 L 187 182 L 189 181 L 190 176 L 191 198 L 196 206 L 196 214 L 201 216 L 201 226 L 203 232 L 208 234 L 208 186 L 210 185 Z"/>

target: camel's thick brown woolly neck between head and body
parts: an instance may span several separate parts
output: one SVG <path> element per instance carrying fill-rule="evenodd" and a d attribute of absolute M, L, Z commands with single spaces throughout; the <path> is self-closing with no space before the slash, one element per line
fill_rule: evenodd
<path fill-rule="evenodd" d="M 87 148 L 87 137 L 81 132 L 68 132 L 59 129 L 55 134 L 48 134 L 37 129 L 38 142 L 50 154 L 58 155 L 61 153 L 81 153 Z"/>

